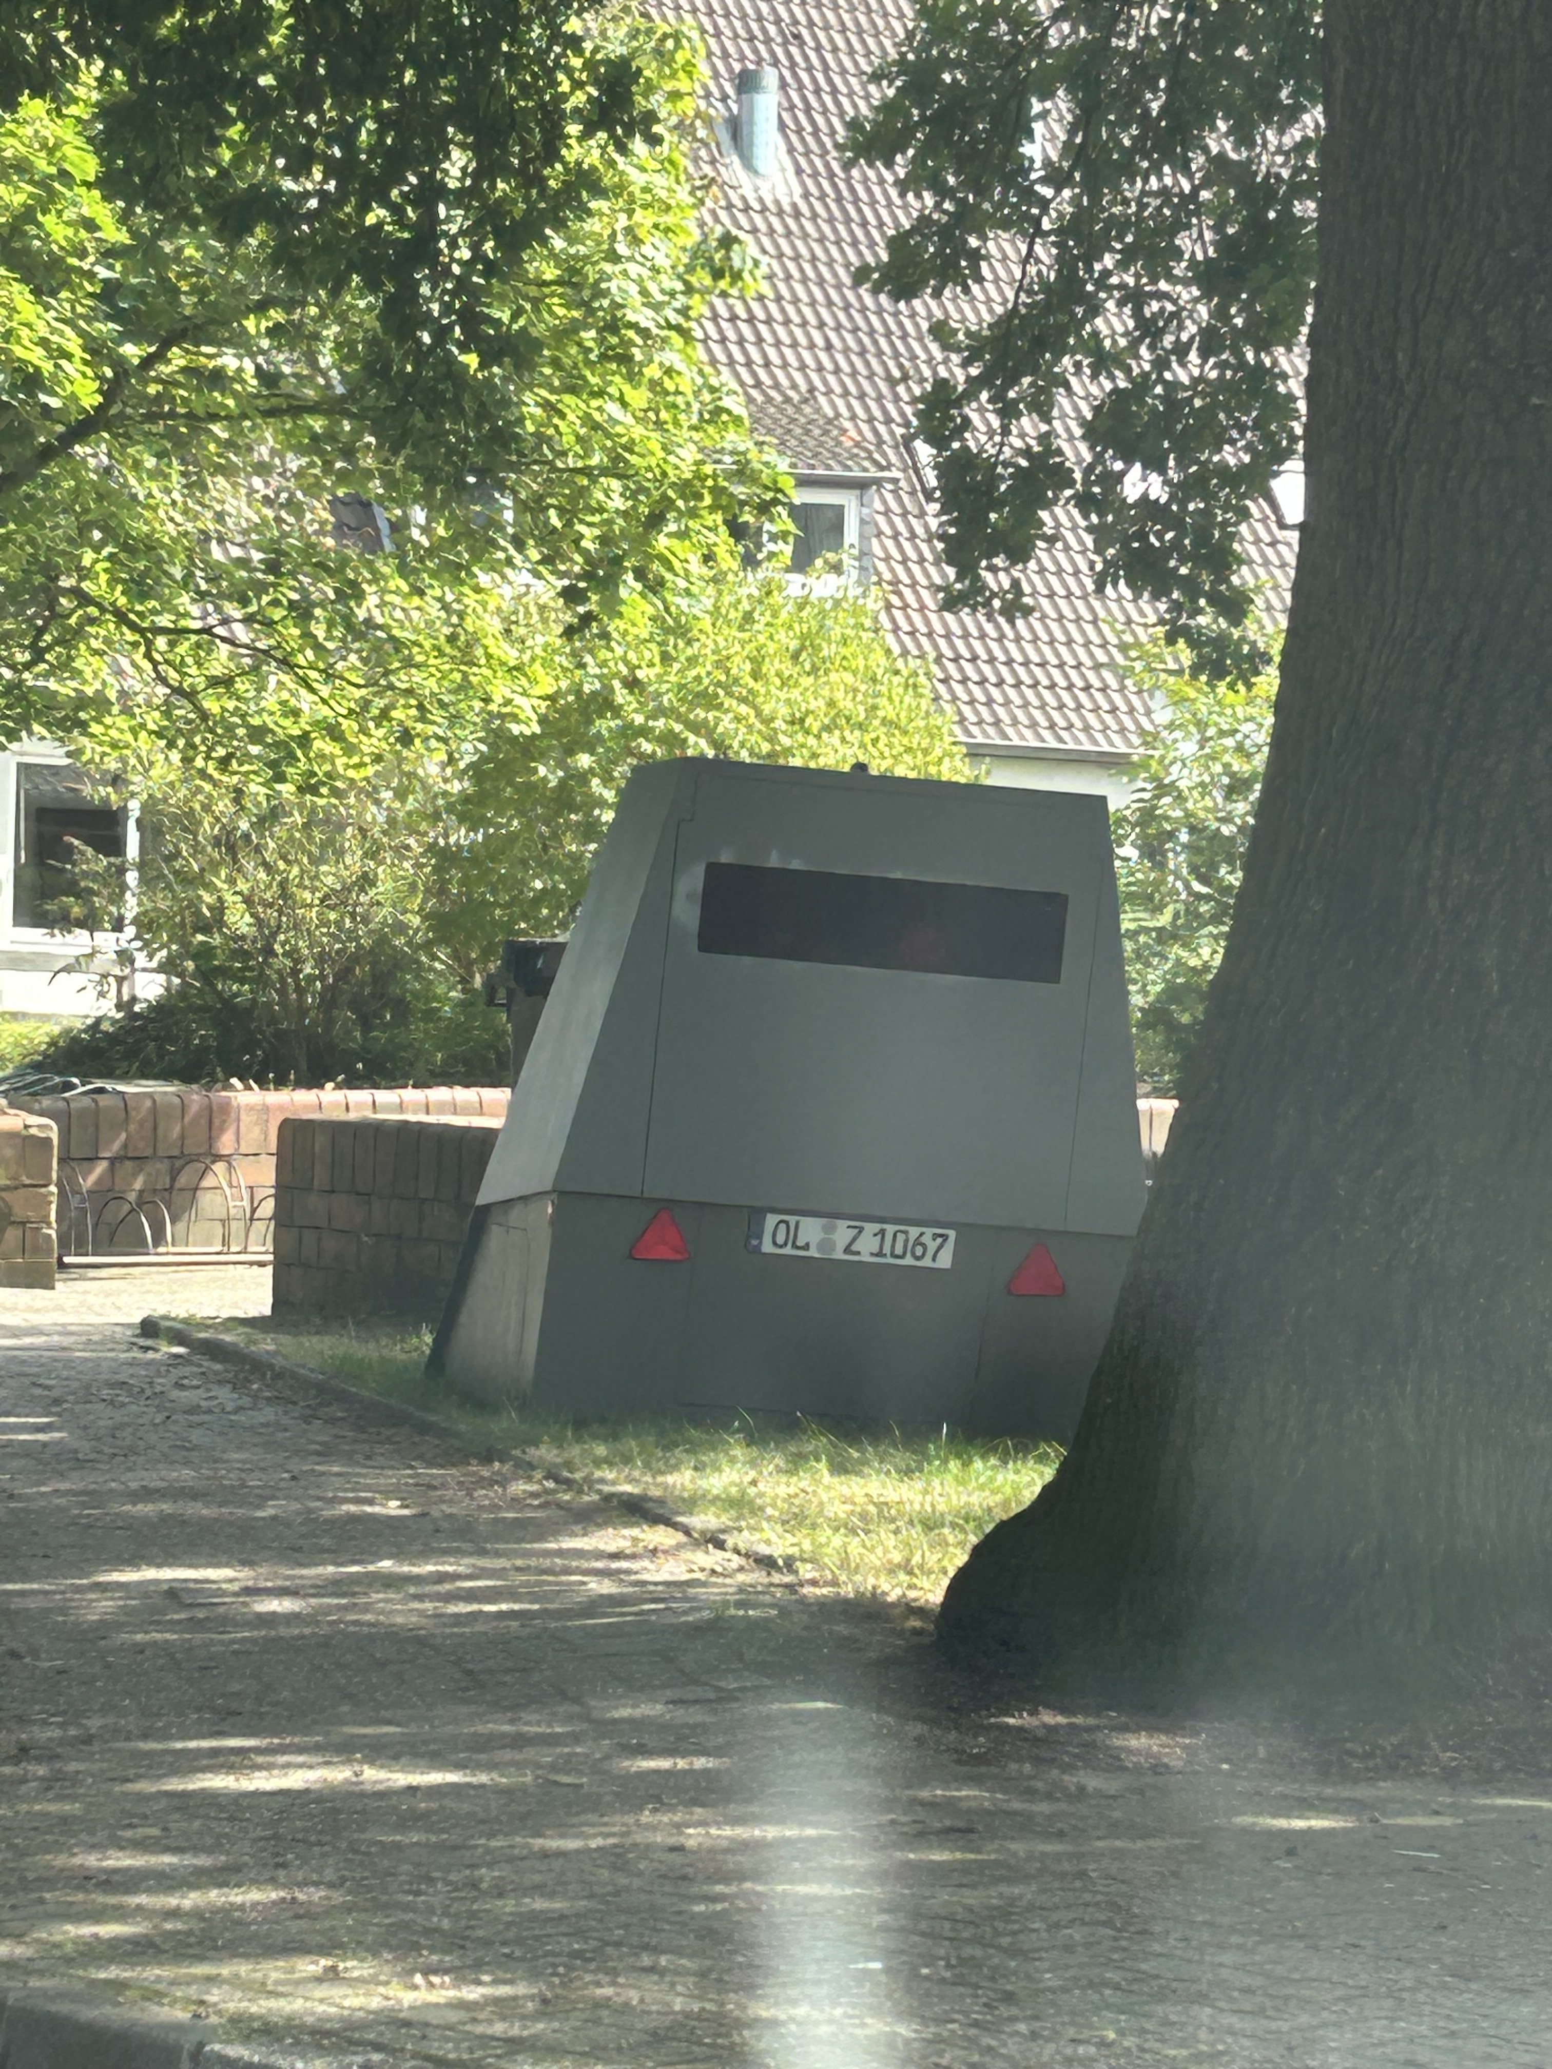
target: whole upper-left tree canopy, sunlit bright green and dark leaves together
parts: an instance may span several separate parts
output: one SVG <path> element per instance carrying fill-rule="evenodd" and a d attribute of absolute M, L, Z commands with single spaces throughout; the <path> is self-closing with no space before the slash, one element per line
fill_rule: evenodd
<path fill-rule="evenodd" d="M 172 726 L 219 759 L 250 730 L 281 772 L 319 734 L 364 766 L 441 722 L 426 625 L 445 656 L 457 629 L 461 697 L 499 674 L 515 583 L 606 614 L 726 563 L 730 521 L 778 501 L 695 348 L 743 261 L 697 223 L 693 39 L 610 12 L 555 29 L 542 93 L 521 68 L 472 91 L 478 52 L 517 62 L 513 12 L 385 8 L 383 64 L 331 60 L 296 108 L 327 8 L 81 31 L 93 70 L 68 46 L 23 66 L 12 33 L 4 77 L 48 87 L 0 118 L 12 737 Z M 337 550 L 341 499 L 387 509 L 391 552 Z"/>

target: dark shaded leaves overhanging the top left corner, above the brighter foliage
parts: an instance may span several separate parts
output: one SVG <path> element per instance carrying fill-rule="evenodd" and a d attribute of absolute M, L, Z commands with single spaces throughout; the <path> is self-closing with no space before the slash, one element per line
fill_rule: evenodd
<path fill-rule="evenodd" d="M 683 31 L 571 0 L 33 0 L 0 31 L 0 106 L 95 83 L 114 205 L 252 267 L 261 317 L 352 312 L 344 422 L 426 482 L 513 490 L 567 290 L 573 343 L 629 350 L 631 290 L 555 252 L 683 141 L 693 70 Z"/>

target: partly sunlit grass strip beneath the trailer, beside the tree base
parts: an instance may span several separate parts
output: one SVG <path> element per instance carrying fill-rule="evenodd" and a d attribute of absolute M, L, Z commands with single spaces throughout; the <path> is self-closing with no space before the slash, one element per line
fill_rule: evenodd
<path fill-rule="evenodd" d="M 809 1585 L 848 1595 L 935 1603 L 977 1537 L 1033 1502 L 1062 1457 L 1055 1444 L 815 1421 L 569 1423 L 484 1409 L 428 1380 L 428 1330 L 312 1318 L 195 1326 L 426 1409 L 474 1448 L 509 1446 L 584 1483 L 652 1494 L 697 1529 L 774 1552 Z"/>

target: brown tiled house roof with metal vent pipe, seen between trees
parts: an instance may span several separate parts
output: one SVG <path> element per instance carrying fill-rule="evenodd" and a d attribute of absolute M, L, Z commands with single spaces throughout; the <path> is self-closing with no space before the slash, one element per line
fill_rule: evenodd
<path fill-rule="evenodd" d="M 706 348 L 795 476 L 795 567 L 848 550 L 879 581 L 892 639 L 931 658 L 960 739 L 993 782 L 1124 794 L 1148 714 L 1120 641 L 1148 614 L 1095 594 L 1078 523 L 1028 569 L 1031 617 L 937 602 L 931 480 L 911 443 L 913 399 L 942 356 L 933 308 L 855 286 L 906 203 L 884 170 L 848 166 L 840 147 L 875 97 L 869 74 L 906 33 L 911 0 L 656 4 L 695 21 L 708 43 L 716 207 L 757 252 L 766 292 L 718 304 Z M 1275 509 L 1252 526 L 1273 583 L 1291 577 L 1293 540 Z"/>

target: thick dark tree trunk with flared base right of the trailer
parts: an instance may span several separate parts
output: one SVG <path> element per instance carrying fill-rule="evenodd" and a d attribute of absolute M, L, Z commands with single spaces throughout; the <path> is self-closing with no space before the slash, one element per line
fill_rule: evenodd
<path fill-rule="evenodd" d="M 1552 1639 L 1552 6 L 1326 0 L 1310 503 L 1233 933 L 1072 1452 L 1055 1684 Z"/>

